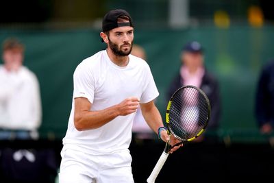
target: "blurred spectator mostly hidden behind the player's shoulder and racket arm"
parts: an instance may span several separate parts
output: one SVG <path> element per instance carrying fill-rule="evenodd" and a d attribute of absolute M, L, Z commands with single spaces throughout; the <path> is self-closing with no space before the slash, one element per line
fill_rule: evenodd
<path fill-rule="evenodd" d="M 131 54 L 138 58 L 142 58 L 142 60 L 146 60 L 145 49 L 143 49 L 139 45 L 133 45 Z M 149 125 L 147 125 L 144 117 L 142 117 L 140 106 L 136 111 L 136 116 L 134 118 L 132 126 L 132 132 L 134 132 L 134 137 L 138 139 L 150 139 L 154 136 L 153 131 L 151 130 Z"/>

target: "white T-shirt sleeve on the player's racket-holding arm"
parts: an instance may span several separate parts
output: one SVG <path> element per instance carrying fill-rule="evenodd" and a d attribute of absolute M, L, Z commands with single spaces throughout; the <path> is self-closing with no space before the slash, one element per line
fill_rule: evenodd
<path fill-rule="evenodd" d="M 140 103 L 148 103 L 149 101 L 153 101 L 156 97 L 159 96 L 158 89 L 153 79 L 153 75 L 149 68 L 149 65 L 146 64 L 145 66 L 145 88 L 140 98 Z"/>

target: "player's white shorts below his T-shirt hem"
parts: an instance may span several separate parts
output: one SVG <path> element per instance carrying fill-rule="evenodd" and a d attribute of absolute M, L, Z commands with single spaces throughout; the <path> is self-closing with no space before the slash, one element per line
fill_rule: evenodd
<path fill-rule="evenodd" d="M 133 183 L 129 151 L 91 155 L 63 149 L 59 183 Z"/>

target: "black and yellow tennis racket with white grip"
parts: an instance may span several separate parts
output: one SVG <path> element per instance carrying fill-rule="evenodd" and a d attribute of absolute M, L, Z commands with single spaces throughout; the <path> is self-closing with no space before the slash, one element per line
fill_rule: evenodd
<path fill-rule="evenodd" d="M 181 142 L 173 146 L 169 142 L 166 143 L 162 155 L 147 179 L 148 183 L 155 182 L 173 147 L 194 140 L 206 130 L 210 112 L 210 101 L 201 89 L 188 85 L 175 91 L 167 105 L 166 125 L 168 133 Z"/>

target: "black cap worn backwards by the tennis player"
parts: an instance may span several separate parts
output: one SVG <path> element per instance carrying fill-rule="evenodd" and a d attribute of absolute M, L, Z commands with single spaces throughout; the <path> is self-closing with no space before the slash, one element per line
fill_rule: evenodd
<path fill-rule="evenodd" d="M 120 16 L 127 16 L 129 18 L 129 22 L 117 23 L 117 19 Z M 105 16 L 103 17 L 103 23 L 102 23 L 103 32 L 107 32 L 116 27 L 123 27 L 123 26 L 134 27 L 132 23 L 132 17 L 130 17 L 129 13 L 125 10 L 110 10 L 110 12 L 105 14 Z"/>

